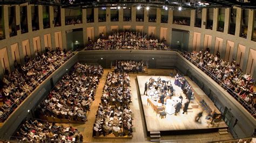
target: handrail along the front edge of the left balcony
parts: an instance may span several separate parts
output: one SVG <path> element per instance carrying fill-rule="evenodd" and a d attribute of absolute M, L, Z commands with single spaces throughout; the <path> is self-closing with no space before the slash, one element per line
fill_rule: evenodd
<path fill-rule="evenodd" d="M 71 54 L 69 54 L 68 56 L 66 56 L 66 58 L 64 58 L 63 60 L 61 60 L 55 67 L 54 69 L 58 69 L 65 61 L 67 61 L 68 59 L 70 59 L 73 55 L 75 55 L 74 52 L 72 52 Z M 32 87 L 32 90 L 30 92 L 30 94 L 32 93 L 32 91 L 34 91 L 36 89 L 36 87 L 38 87 L 48 76 L 50 76 L 53 73 L 52 70 L 49 70 L 48 73 L 46 73 L 43 77 L 39 78 L 37 80 L 37 84 L 34 85 L 30 85 L 30 87 Z M 21 97 L 19 97 L 14 104 L 12 104 L 10 106 L 10 108 L 8 109 L 8 111 L 5 111 L 1 116 L 0 116 L 0 122 L 4 122 L 10 115 L 11 113 L 24 101 L 24 99 L 26 97 L 28 97 L 30 95 L 28 92 L 25 92 Z"/>

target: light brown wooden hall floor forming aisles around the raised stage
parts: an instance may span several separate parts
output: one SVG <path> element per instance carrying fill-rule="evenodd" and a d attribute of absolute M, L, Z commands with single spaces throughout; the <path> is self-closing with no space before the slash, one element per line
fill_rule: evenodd
<path fill-rule="evenodd" d="M 134 113 L 133 125 L 135 128 L 135 132 L 133 133 L 132 139 L 126 138 L 116 138 L 116 139 L 107 139 L 107 138 L 93 138 L 92 137 L 92 127 L 95 122 L 96 111 L 98 109 L 98 105 L 100 102 L 100 97 L 102 96 L 103 86 L 105 84 L 107 72 L 111 71 L 111 69 L 104 69 L 103 77 L 100 79 L 95 101 L 92 102 L 91 111 L 88 115 L 88 121 L 85 124 L 64 124 L 64 125 L 72 125 L 75 126 L 78 131 L 80 131 L 84 137 L 84 142 L 148 142 L 150 138 L 147 137 L 146 134 L 146 125 L 144 122 L 144 116 L 142 112 L 142 104 L 140 102 L 139 95 L 139 87 L 137 85 L 136 74 L 130 75 L 131 80 L 131 93 L 132 93 L 132 103 L 131 109 Z M 175 70 L 172 69 L 148 69 L 149 75 L 169 75 L 170 72 L 175 73 Z M 210 139 L 209 139 L 210 138 Z M 190 134 L 190 135 L 165 135 L 161 136 L 161 140 L 167 142 L 177 142 L 177 140 L 187 140 L 182 142 L 200 142 L 200 141 L 211 141 L 211 139 L 233 139 L 231 134 L 229 135 L 219 135 L 218 133 L 203 133 L 203 134 Z M 174 141 L 175 140 L 175 141 Z"/>

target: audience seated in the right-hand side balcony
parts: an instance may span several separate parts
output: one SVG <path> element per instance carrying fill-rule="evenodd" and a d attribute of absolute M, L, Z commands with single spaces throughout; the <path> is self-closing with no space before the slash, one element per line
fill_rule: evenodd
<path fill-rule="evenodd" d="M 241 100 L 244 100 L 252 108 L 256 108 L 254 92 L 255 80 L 250 74 L 242 73 L 242 70 L 236 66 L 236 62 L 233 59 L 231 62 L 220 59 L 220 54 L 216 55 L 210 53 L 210 49 L 205 49 L 200 52 L 185 52 L 185 58 L 191 58 L 191 60 L 197 63 L 199 68 L 206 69 L 214 78 L 217 78 L 223 85 L 223 87 L 232 95 L 238 95 Z"/>

